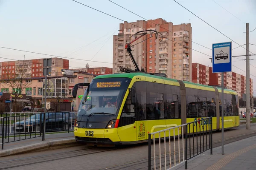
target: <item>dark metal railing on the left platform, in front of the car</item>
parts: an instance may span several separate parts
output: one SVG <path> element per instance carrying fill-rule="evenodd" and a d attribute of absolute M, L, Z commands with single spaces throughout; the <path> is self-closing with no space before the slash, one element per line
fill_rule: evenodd
<path fill-rule="evenodd" d="M 66 131 L 70 133 L 70 130 L 75 127 L 76 119 L 75 112 L 1 113 L 0 116 L 2 149 L 4 143 L 19 140 L 42 137 L 44 141 L 44 132 Z"/>

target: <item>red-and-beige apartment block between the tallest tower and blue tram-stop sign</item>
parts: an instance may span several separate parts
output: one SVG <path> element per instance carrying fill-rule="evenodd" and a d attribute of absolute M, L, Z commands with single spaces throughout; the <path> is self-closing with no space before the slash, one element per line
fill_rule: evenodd
<path fill-rule="evenodd" d="M 192 82 L 209 85 L 209 67 L 199 63 L 192 63 Z"/>

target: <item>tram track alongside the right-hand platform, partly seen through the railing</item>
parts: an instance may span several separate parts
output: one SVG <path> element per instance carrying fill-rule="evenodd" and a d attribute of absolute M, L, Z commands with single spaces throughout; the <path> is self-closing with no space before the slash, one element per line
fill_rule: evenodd
<path fill-rule="evenodd" d="M 224 139 L 224 144 L 229 144 L 229 143 L 236 142 L 241 139 L 249 138 L 252 136 L 256 136 L 256 132 L 242 134 L 239 136 L 233 136 L 233 137 Z M 222 142 L 221 140 L 212 142 L 212 147 L 215 148 L 215 147 L 221 146 L 221 142 Z M 206 146 L 206 144 L 205 144 L 205 146 Z M 201 145 L 201 148 L 203 148 L 203 145 Z M 193 147 L 190 147 L 190 149 L 191 149 L 191 151 L 193 151 Z M 192 152 L 192 154 L 193 153 L 194 152 Z M 188 153 L 188 155 L 189 155 L 189 153 Z M 200 154 L 198 154 L 198 155 L 200 155 Z M 165 154 L 161 154 L 161 167 L 165 167 L 164 156 L 165 156 Z M 166 156 L 169 156 L 169 152 L 166 153 Z M 174 152 L 171 152 L 171 157 L 172 157 L 172 159 L 171 159 L 172 164 L 174 164 Z M 176 164 L 179 162 L 179 161 L 177 161 L 177 159 L 178 159 L 178 156 L 176 154 Z M 160 168 L 159 160 L 160 160 L 159 155 L 156 155 L 156 169 Z M 169 160 L 169 157 L 166 160 Z M 138 165 L 142 165 L 142 164 L 144 165 L 143 167 L 136 168 Z M 166 165 L 169 166 L 169 163 Z M 153 168 L 151 168 L 151 170 L 154 170 L 154 156 L 151 156 L 151 167 L 153 167 Z M 138 161 L 133 161 L 133 162 L 129 162 L 129 163 L 118 165 L 118 166 L 108 167 L 108 168 L 105 168 L 105 170 L 123 170 L 125 168 L 129 168 L 129 169 L 133 169 L 133 170 L 147 169 L 148 168 L 148 158 L 140 159 Z"/>

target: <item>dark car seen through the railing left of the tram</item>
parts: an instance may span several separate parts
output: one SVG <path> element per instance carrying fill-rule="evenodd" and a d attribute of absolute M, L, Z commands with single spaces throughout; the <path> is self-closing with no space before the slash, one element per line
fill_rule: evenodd
<path fill-rule="evenodd" d="M 71 115 L 71 113 L 70 113 Z M 73 119 L 73 118 L 72 118 Z M 74 120 L 68 119 L 68 112 L 49 112 L 46 113 L 45 119 L 45 130 L 46 131 L 55 131 L 55 130 L 68 130 L 69 127 L 72 127 Z M 26 116 L 26 120 L 22 120 L 15 123 L 15 130 L 23 132 L 24 124 L 25 130 L 27 131 L 42 131 L 44 122 L 44 113 L 33 114 L 31 116 Z M 71 124 L 72 123 L 72 124 Z"/>

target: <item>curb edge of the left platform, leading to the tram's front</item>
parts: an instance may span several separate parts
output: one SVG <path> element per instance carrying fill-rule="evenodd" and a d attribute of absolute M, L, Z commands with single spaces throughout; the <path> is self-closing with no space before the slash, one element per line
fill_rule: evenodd
<path fill-rule="evenodd" d="M 61 139 L 61 140 L 54 140 L 54 141 L 44 141 L 37 144 L 29 144 L 22 147 L 17 147 L 13 149 L 3 150 L 0 151 L 0 157 L 16 155 L 20 153 L 32 152 L 35 150 L 42 150 L 51 147 L 57 146 L 65 146 L 65 145 L 73 145 L 77 144 L 76 139 Z M 65 146 L 66 147 L 66 146 Z"/>

